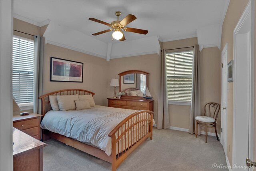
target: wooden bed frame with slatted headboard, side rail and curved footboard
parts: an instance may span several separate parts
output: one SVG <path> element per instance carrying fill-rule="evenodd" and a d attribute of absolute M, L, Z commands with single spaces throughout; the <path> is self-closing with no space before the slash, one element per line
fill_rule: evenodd
<path fill-rule="evenodd" d="M 42 95 L 39 97 L 39 99 L 42 100 L 42 115 L 46 114 L 46 112 L 52 110 L 50 101 L 49 101 L 49 95 L 74 95 L 74 94 L 79 94 L 79 95 L 94 95 L 95 93 L 83 89 L 64 89 L 64 90 L 59 90 L 59 91 L 54 91 L 45 95 Z M 132 113 L 128 117 L 126 117 L 123 121 L 121 121 L 109 134 L 108 136 L 111 137 L 112 139 L 112 153 L 110 156 L 108 156 L 104 151 L 101 149 L 98 149 L 96 147 L 86 145 L 85 143 L 82 143 L 80 141 L 76 141 L 72 138 L 66 137 L 64 135 L 60 135 L 58 133 L 54 133 L 51 131 L 48 131 L 46 129 L 43 130 L 43 141 L 54 138 L 58 141 L 61 141 L 63 143 L 66 143 L 76 149 L 79 149 L 81 151 L 84 151 L 90 155 L 93 155 L 95 157 L 98 157 L 102 160 L 105 160 L 109 163 L 112 163 L 112 171 L 115 171 L 118 166 L 134 151 L 141 143 L 143 143 L 146 139 L 150 137 L 152 139 L 152 127 L 153 127 L 153 112 L 148 111 L 148 110 L 143 110 L 143 111 L 137 111 L 135 113 Z M 132 123 L 133 120 L 133 123 Z M 132 123 L 132 124 L 129 124 Z M 149 123 L 149 126 L 146 126 L 147 124 L 144 123 Z M 128 126 L 127 126 L 128 125 Z M 137 129 L 140 127 L 140 129 Z M 132 141 L 132 137 L 129 137 L 130 131 L 138 130 L 140 134 L 139 138 L 134 139 Z M 135 134 L 135 135 L 134 135 Z M 133 136 L 137 137 L 137 131 Z M 118 135 L 116 137 L 116 135 Z M 127 136 L 128 135 L 128 136 Z M 128 148 L 124 148 L 127 145 L 124 145 L 123 147 L 123 139 L 124 139 L 124 144 L 126 144 L 126 139 L 128 139 L 128 142 L 130 140 L 130 143 L 128 143 Z M 123 151 L 121 150 L 120 153 L 117 153 L 116 149 L 120 151 L 119 149 L 119 143 L 121 143 L 122 148 L 124 149 Z"/>

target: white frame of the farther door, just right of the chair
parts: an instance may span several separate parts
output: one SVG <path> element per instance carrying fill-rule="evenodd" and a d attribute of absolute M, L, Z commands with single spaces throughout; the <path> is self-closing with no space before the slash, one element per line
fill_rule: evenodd
<path fill-rule="evenodd" d="M 228 43 L 226 43 L 226 45 L 224 46 L 224 48 L 223 48 L 223 50 L 222 50 L 222 53 L 221 53 L 221 62 L 222 62 L 222 56 L 223 56 L 223 54 L 226 52 L 226 57 L 225 57 L 225 64 L 228 64 Z M 223 65 L 223 63 L 222 63 L 222 65 Z M 227 66 L 225 66 L 226 67 L 226 76 L 227 76 Z M 221 73 L 221 75 L 222 75 L 223 73 Z M 226 77 L 226 79 L 227 79 L 228 77 Z M 227 80 L 226 80 L 226 82 L 227 82 Z M 223 82 L 222 82 L 222 84 L 223 84 Z M 222 88 L 222 86 L 223 85 L 221 85 L 221 88 Z M 225 88 L 225 87 L 224 87 Z M 221 94 L 223 94 L 223 93 L 221 93 Z M 221 97 L 221 103 L 222 103 L 222 97 Z M 226 106 L 227 106 L 227 104 L 228 104 L 228 84 L 226 84 Z M 224 106 L 222 106 L 222 107 L 224 107 Z M 226 131 L 226 133 L 225 133 L 225 137 L 223 136 L 223 134 L 222 134 L 222 132 L 221 132 L 221 136 L 220 136 L 220 143 L 222 144 L 222 146 L 223 146 L 223 140 L 224 139 L 226 139 L 226 147 L 224 147 L 223 146 L 223 149 L 224 149 L 224 152 L 225 152 L 225 155 L 227 155 L 227 149 L 228 149 L 228 144 L 227 144 L 227 142 L 228 142 L 228 108 L 226 108 L 226 123 L 223 123 L 223 115 L 221 115 L 221 128 L 224 128 L 224 131 Z"/>

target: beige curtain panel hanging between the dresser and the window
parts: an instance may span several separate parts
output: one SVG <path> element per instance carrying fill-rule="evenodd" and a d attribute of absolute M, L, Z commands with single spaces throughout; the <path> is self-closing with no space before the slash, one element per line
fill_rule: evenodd
<path fill-rule="evenodd" d="M 166 76 L 166 52 L 161 53 L 161 76 L 158 91 L 157 129 L 168 129 L 170 127 L 168 97 L 167 97 L 167 76 Z"/>

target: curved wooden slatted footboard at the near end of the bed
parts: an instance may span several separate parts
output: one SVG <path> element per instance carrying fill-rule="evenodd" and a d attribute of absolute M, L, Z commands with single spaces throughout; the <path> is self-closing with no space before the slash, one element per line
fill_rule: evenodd
<path fill-rule="evenodd" d="M 112 139 L 112 171 L 115 171 L 143 141 L 148 137 L 152 139 L 153 114 L 152 111 L 133 113 L 108 134 Z M 118 154 L 113 155 L 116 153 Z"/>

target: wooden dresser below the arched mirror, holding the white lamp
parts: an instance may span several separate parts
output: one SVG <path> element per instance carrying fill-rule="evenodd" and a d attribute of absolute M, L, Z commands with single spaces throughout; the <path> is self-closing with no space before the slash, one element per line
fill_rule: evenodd
<path fill-rule="evenodd" d="M 121 97 L 120 99 L 108 98 L 108 107 L 154 111 L 154 100 L 126 97 Z"/>

